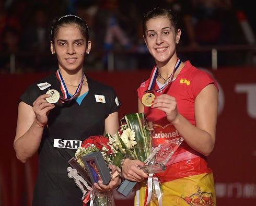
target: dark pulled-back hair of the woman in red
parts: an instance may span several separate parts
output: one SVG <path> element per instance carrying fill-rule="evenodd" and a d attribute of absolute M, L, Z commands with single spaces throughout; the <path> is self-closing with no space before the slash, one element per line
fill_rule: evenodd
<path fill-rule="evenodd" d="M 175 31 L 178 32 L 178 18 L 177 18 L 177 13 L 174 13 L 171 9 L 166 9 L 166 8 L 154 8 L 150 11 L 147 12 L 147 14 L 143 17 L 142 21 L 142 29 L 143 29 L 143 34 L 146 34 L 146 23 L 148 20 L 157 18 L 157 17 L 167 17 L 172 26 L 174 27 Z"/>

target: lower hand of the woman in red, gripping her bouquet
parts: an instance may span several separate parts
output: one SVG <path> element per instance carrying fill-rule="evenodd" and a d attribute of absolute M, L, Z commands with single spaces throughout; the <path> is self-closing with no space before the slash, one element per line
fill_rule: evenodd
<path fill-rule="evenodd" d="M 148 177 L 138 166 L 144 163 L 139 160 L 125 159 L 122 165 L 122 177 L 130 181 L 142 181 Z"/>

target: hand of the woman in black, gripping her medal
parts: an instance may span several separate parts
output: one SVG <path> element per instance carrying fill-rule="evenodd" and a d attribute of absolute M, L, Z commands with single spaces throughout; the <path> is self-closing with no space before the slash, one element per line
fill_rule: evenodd
<path fill-rule="evenodd" d="M 52 110 L 55 105 L 49 103 L 45 100 L 45 98 L 49 98 L 50 94 L 43 94 L 40 95 L 34 102 L 33 102 L 33 111 L 36 115 L 36 120 L 39 124 L 46 125 L 48 122 L 48 114 L 50 110 Z"/>

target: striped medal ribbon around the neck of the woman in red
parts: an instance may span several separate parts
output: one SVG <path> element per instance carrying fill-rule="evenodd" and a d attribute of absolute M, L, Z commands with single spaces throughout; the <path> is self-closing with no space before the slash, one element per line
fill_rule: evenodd
<path fill-rule="evenodd" d="M 181 63 L 181 60 L 179 58 L 177 58 L 176 64 L 175 64 L 174 69 L 173 69 L 173 71 L 171 73 L 171 77 L 169 78 L 168 83 L 164 84 L 164 86 L 162 88 L 156 90 L 156 92 L 159 92 L 159 91 L 163 90 L 167 85 L 170 84 L 170 82 L 172 82 L 173 77 L 174 77 L 174 73 L 179 68 L 180 63 Z M 157 69 L 157 66 L 155 65 L 153 70 L 152 70 L 152 72 L 151 72 L 151 75 L 150 75 L 150 81 L 148 83 L 148 89 L 145 92 L 153 90 L 152 88 L 153 88 L 153 86 L 154 86 L 154 84 L 156 82 L 157 75 L 158 75 L 158 69 Z"/>

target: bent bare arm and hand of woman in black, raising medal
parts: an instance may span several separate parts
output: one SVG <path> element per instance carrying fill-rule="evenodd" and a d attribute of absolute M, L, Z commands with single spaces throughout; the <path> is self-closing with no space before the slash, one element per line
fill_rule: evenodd
<path fill-rule="evenodd" d="M 40 125 L 47 124 L 47 114 L 54 108 L 53 104 L 44 99 L 49 96 L 49 94 L 39 96 L 34 101 L 33 107 L 24 102 L 19 103 L 14 149 L 17 159 L 21 162 L 26 162 L 38 151 L 44 128 Z"/>

